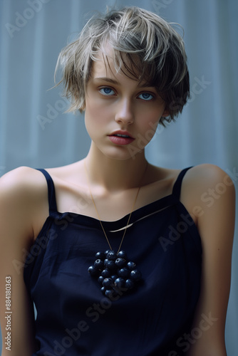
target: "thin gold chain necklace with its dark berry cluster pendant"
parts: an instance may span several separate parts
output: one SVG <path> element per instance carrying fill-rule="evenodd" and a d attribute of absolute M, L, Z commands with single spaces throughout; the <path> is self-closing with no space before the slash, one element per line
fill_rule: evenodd
<path fill-rule="evenodd" d="M 108 236 L 107 236 L 105 229 L 103 227 L 102 221 L 100 220 L 100 215 L 98 213 L 98 209 L 95 205 L 95 201 L 93 199 L 93 194 L 90 189 L 90 180 L 89 180 L 89 176 L 88 176 L 88 170 L 86 167 L 86 160 L 84 160 L 84 168 L 85 168 L 86 177 L 88 180 L 88 188 L 90 191 L 90 197 L 93 201 L 93 206 L 94 206 L 95 211 L 98 215 L 98 219 L 100 222 L 100 226 L 103 230 L 103 234 L 105 235 L 105 239 L 107 240 L 108 246 L 110 247 L 110 250 L 107 250 L 105 252 L 97 252 L 95 254 L 96 260 L 93 263 L 93 265 L 88 268 L 88 272 L 90 273 L 91 276 L 98 278 L 98 283 L 101 286 L 101 291 L 103 292 L 103 294 L 105 296 L 107 296 L 111 300 L 117 300 L 115 298 L 119 298 L 120 295 L 122 295 L 122 292 L 133 289 L 135 287 L 135 283 L 137 283 L 138 281 L 141 280 L 141 273 L 136 268 L 135 263 L 132 261 L 128 261 L 127 254 L 125 253 L 125 251 L 120 251 L 120 248 L 123 244 L 125 233 L 128 229 L 128 225 L 130 222 L 130 217 L 133 214 L 133 210 L 135 208 L 135 203 L 138 199 L 141 182 L 142 182 L 142 180 L 145 176 L 145 172 L 147 171 L 147 168 L 148 168 L 148 162 L 146 164 L 143 177 L 140 181 L 138 191 L 135 195 L 133 207 L 132 207 L 132 210 L 130 211 L 130 214 L 128 217 L 128 222 L 125 226 L 125 231 L 123 233 L 123 238 L 120 241 L 120 246 L 119 246 L 117 252 L 113 251 L 113 248 L 110 245 Z"/>

